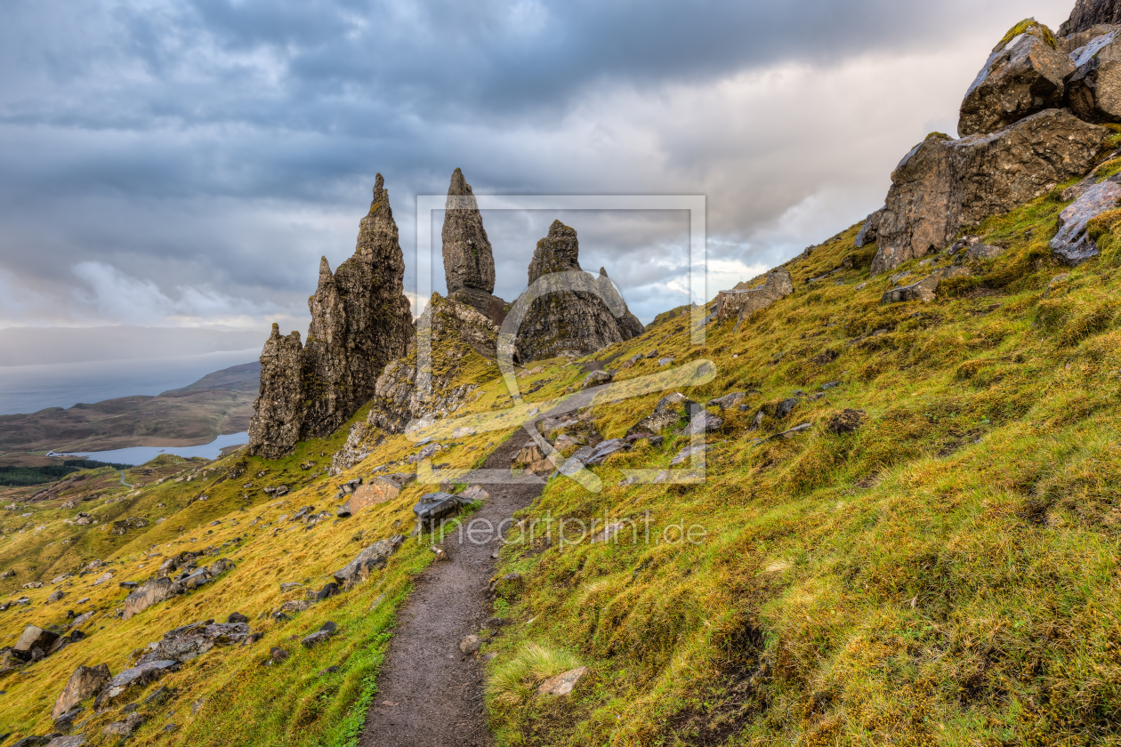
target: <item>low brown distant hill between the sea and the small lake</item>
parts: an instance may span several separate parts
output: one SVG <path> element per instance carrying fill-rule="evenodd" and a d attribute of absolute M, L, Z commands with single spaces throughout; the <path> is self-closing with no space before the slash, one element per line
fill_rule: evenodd
<path fill-rule="evenodd" d="M 0 415 L 0 454 L 189 446 L 237 433 L 249 428 L 260 370 L 259 363 L 247 363 L 158 396 L 122 396 L 65 410 Z"/>

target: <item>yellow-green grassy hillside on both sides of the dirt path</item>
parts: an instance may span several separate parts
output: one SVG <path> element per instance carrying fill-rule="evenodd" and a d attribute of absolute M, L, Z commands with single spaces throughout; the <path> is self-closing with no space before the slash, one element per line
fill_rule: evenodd
<path fill-rule="evenodd" d="M 853 226 L 788 263 L 795 293 L 738 330 L 710 325 L 706 345 L 694 347 L 687 317 L 667 315 L 597 354 L 612 367 L 655 348 L 674 366 L 710 360 L 715 379 L 684 393 L 704 403 L 743 391 L 744 408 L 725 410 L 710 435 L 703 483 L 620 484 L 621 469 L 668 466 L 685 441 L 667 431 L 657 447 L 639 441 L 592 467 L 601 492 L 555 479 L 520 516 L 500 573 L 524 582 L 501 585 L 494 601 L 515 624 L 482 652 L 497 654 L 488 666 L 499 744 L 1121 744 L 1121 212 L 1095 224 L 1103 256 L 1069 270 L 1047 250 L 1057 195 L 981 226 L 1004 253 L 944 282 L 930 304 L 881 306 L 891 283 L 869 278 L 876 248 L 856 250 Z M 917 280 L 919 265 L 901 269 Z M 482 366 L 464 370 L 479 379 Z M 665 370 L 643 358 L 617 380 Z M 536 402 L 583 376 L 556 360 L 518 383 L 541 383 L 527 396 Z M 661 394 L 606 395 L 592 423 L 620 437 Z M 492 379 L 463 413 L 500 410 L 508 396 Z M 797 403 L 779 418 L 787 399 Z M 862 412 L 854 432 L 830 428 L 844 410 Z M 115 674 L 168 629 L 239 611 L 263 637 L 217 646 L 122 700 L 148 719 L 132 740 L 354 744 L 395 610 L 430 562 L 426 544 L 407 542 L 385 571 L 290 619 L 270 614 L 371 542 L 407 533 L 411 505 L 433 486 L 413 484 L 335 521 L 341 484 L 383 465 L 409 470 L 418 450 L 401 436 L 372 438 L 369 457 L 328 477 L 349 426 L 278 461 L 164 457 L 127 470 L 133 487 L 105 469 L 71 476 L 35 503 L 41 487 L 6 491 L 0 569 L 16 576 L 0 590 L 29 604 L 0 613 L 4 643 L 28 623 L 65 624 L 67 609 L 96 614 L 85 641 L 0 674 L 0 731 L 49 731 L 50 707 L 78 664 L 105 662 Z M 475 466 L 510 432 L 441 439 L 450 448 L 435 461 Z M 290 493 L 262 491 L 277 485 Z M 309 505 L 332 515 L 314 526 L 290 520 Z M 78 512 L 98 522 L 66 523 Z M 113 534 L 112 522 L 128 517 L 149 523 Z M 632 543 L 628 529 L 621 542 L 517 541 L 558 519 L 631 520 L 650 540 Z M 694 541 L 678 541 L 682 530 Z M 235 567 L 115 618 L 120 581 L 142 581 L 187 549 Z M 93 559 L 110 562 L 111 580 L 94 583 L 105 569 L 74 576 Z M 53 585 L 62 573 L 72 576 Z M 24 589 L 28 581 L 46 583 Z M 57 589 L 66 596 L 48 604 Z M 340 633 L 305 650 L 299 639 L 328 620 Z M 290 657 L 267 664 L 274 646 Z M 535 694 L 545 676 L 578 664 L 590 674 L 571 695 Z M 160 685 L 174 697 L 145 703 Z M 82 726 L 87 744 L 115 744 L 101 730 L 123 718 L 121 704 Z"/>

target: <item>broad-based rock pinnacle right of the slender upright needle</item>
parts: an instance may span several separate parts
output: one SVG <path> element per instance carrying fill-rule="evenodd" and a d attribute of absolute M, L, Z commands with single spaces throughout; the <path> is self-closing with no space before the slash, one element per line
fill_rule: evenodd
<path fill-rule="evenodd" d="M 565 351 L 586 355 L 642 334 L 642 323 L 627 309 L 606 271 L 600 268 L 600 276 L 592 279 L 581 269 L 578 255 L 576 231 L 559 221 L 537 242 L 529 263 L 527 292 L 532 298 L 519 299 L 519 305 L 528 302 L 516 330 L 519 362 L 550 358 Z"/>

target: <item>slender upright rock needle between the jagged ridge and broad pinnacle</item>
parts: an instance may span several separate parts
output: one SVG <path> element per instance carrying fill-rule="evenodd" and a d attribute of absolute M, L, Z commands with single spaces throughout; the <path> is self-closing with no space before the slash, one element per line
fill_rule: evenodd
<path fill-rule="evenodd" d="M 495 324 L 502 324 L 506 301 L 492 295 L 494 254 L 479 200 L 460 169 L 452 172 L 445 207 L 442 237 L 447 297 L 473 306 Z"/>

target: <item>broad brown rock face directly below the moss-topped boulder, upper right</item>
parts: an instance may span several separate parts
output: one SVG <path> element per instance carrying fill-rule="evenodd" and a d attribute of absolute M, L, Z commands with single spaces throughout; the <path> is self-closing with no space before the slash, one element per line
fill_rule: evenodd
<path fill-rule="evenodd" d="M 1055 109 L 992 134 L 928 136 L 891 175 L 872 272 L 942 249 L 961 228 L 1085 174 L 1108 136 L 1105 128 Z"/>

